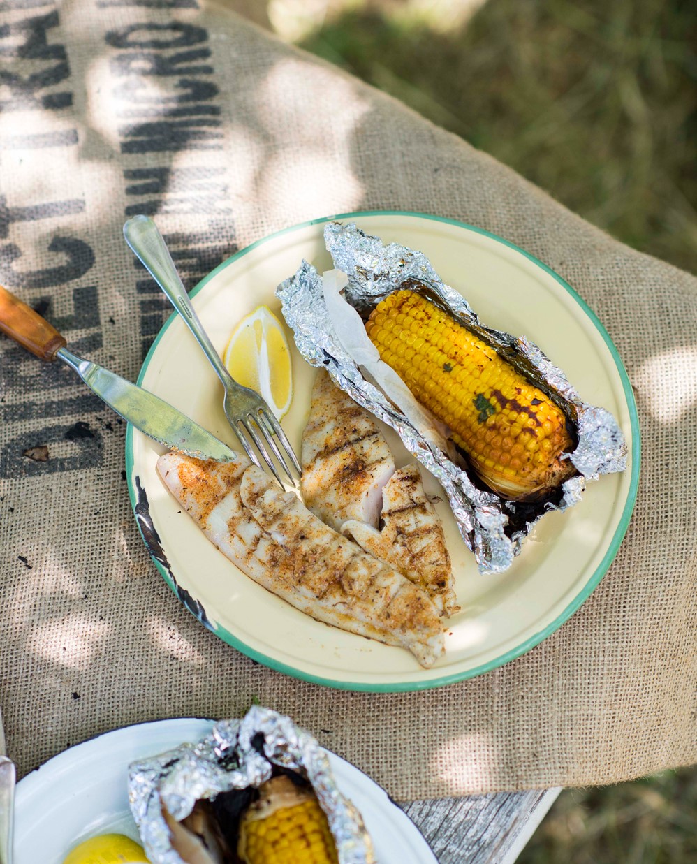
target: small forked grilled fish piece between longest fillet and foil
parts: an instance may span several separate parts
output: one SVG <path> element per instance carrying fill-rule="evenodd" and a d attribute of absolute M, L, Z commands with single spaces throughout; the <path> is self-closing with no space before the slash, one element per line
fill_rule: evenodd
<path fill-rule="evenodd" d="M 382 530 L 350 519 L 341 533 L 428 591 L 446 615 L 459 609 L 446 538 L 426 497 L 416 463 L 399 468 L 383 488 Z"/>

